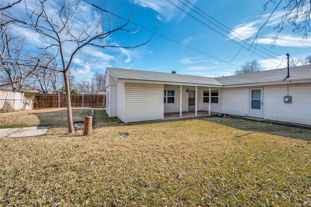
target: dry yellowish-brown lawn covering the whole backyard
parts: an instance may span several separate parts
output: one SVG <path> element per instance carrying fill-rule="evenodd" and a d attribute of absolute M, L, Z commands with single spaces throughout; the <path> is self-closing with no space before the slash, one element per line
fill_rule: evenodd
<path fill-rule="evenodd" d="M 65 112 L 28 112 L 48 133 L 0 140 L 0 206 L 311 205 L 308 128 L 224 118 L 123 124 L 96 109 L 92 135 L 68 137 Z M 8 115 L 27 125 L 23 113 Z M 74 109 L 74 120 L 88 113 Z"/>

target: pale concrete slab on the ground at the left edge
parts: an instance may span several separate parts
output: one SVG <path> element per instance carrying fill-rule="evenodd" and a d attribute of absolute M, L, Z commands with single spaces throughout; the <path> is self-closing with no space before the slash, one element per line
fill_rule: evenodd
<path fill-rule="evenodd" d="M 24 138 L 44 135 L 51 126 L 0 129 L 1 138 Z"/>

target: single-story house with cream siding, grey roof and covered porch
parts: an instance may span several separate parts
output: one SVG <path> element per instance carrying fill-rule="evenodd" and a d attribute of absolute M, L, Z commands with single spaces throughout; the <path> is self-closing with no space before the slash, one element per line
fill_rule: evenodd
<path fill-rule="evenodd" d="M 207 111 L 311 125 L 311 65 L 218 78 L 107 68 L 104 88 L 125 123 Z"/>

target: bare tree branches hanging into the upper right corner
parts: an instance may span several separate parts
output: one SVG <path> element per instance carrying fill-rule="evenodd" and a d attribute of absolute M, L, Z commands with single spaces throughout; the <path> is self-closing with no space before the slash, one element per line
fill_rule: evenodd
<path fill-rule="evenodd" d="M 303 38 L 307 38 L 311 33 L 311 1 L 310 0 L 268 0 L 264 4 L 264 10 L 266 11 L 268 5 L 273 4 L 274 10 L 262 25 L 260 30 L 267 24 L 268 20 L 276 12 L 277 9 L 281 9 L 284 15 L 280 21 L 274 26 L 276 35 L 273 37 L 274 41 L 287 26 L 287 24 L 294 27 L 293 32 L 301 34 Z M 258 33 L 259 33 L 258 32 Z"/>

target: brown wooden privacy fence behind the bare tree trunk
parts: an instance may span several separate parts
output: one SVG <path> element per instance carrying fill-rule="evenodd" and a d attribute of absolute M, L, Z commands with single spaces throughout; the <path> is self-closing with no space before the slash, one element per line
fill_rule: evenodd
<path fill-rule="evenodd" d="M 105 95 L 81 94 L 71 95 L 71 107 L 105 107 Z M 34 108 L 66 107 L 66 95 L 37 94 Z"/>

